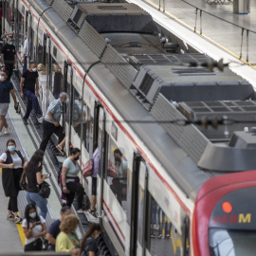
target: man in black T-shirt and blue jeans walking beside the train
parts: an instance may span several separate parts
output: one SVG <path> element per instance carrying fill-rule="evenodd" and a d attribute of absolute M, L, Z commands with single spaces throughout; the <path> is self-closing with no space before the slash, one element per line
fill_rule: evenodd
<path fill-rule="evenodd" d="M 32 107 L 36 111 L 37 119 L 42 118 L 40 105 L 37 100 L 37 96 L 39 96 L 38 72 L 34 62 L 31 62 L 29 68 L 23 73 L 20 88 L 21 97 L 24 98 L 26 96 L 27 98 L 27 110 L 23 118 L 24 124 L 28 124 L 27 119 L 29 118 Z"/>

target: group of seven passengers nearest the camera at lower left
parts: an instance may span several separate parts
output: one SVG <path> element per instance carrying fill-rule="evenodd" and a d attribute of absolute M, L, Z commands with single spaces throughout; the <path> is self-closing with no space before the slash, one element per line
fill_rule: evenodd
<path fill-rule="evenodd" d="M 3 188 L 6 196 L 9 196 L 8 220 L 16 224 L 22 223 L 25 240 L 25 251 L 43 249 L 43 240 L 49 242 L 49 250 L 69 251 L 72 255 L 98 255 L 97 237 L 101 234 L 101 226 L 92 223 L 80 243 L 75 229 L 79 224 L 79 218 L 71 214 L 71 204 L 77 194 L 78 212 L 82 212 L 82 197 L 84 190 L 79 182 L 77 174 L 79 168 L 77 160 L 81 155 L 78 148 L 71 149 L 69 157 L 64 160 L 62 169 L 62 188 L 66 195 L 67 204 L 61 209 L 61 218 L 54 221 L 46 229 L 47 205 L 46 198 L 40 194 L 40 185 L 48 178 L 43 174 L 44 152 L 37 150 L 27 161 L 16 148 L 16 142 L 9 139 L 7 150 L 0 155 L 0 168 L 2 168 Z M 20 181 L 25 174 L 27 183 L 27 207 L 24 219 L 18 215 L 17 197 L 21 190 Z M 40 215 L 36 207 L 40 209 Z"/>

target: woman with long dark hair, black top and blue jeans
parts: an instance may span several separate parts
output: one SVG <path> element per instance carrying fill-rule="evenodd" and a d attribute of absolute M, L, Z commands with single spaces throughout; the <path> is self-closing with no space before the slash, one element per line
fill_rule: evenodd
<path fill-rule="evenodd" d="M 30 161 L 26 168 L 26 180 L 27 180 L 27 204 L 34 204 L 41 210 L 41 216 L 46 219 L 47 214 L 47 203 L 46 198 L 41 196 L 39 192 L 39 186 L 48 177 L 46 174 L 42 174 L 43 170 L 43 156 L 44 152 L 37 150 L 34 155 L 32 155 Z"/>

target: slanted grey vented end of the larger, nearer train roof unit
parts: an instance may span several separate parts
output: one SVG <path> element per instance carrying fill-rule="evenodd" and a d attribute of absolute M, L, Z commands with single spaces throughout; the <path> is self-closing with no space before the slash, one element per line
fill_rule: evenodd
<path fill-rule="evenodd" d="M 163 85 L 164 81 L 148 66 L 142 65 L 130 90 L 149 109 Z"/>

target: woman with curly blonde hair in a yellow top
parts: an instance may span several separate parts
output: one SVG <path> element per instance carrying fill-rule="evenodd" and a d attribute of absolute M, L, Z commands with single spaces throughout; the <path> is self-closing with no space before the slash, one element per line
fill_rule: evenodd
<path fill-rule="evenodd" d="M 75 214 L 66 216 L 60 225 L 61 232 L 56 239 L 56 251 L 71 252 L 71 255 L 79 255 L 79 239 L 75 232 L 79 219 Z"/>

